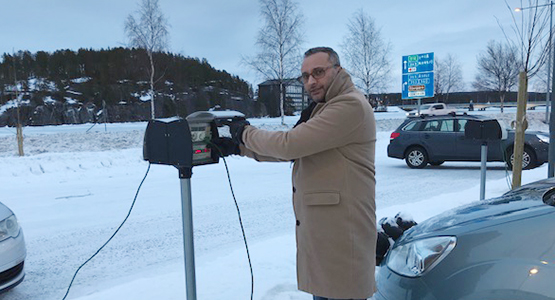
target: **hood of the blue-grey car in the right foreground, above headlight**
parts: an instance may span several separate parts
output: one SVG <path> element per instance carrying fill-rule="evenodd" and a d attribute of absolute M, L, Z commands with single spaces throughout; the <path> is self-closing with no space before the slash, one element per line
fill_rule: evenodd
<path fill-rule="evenodd" d="M 457 235 L 531 215 L 555 213 L 553 179 L 523 186 L 501 197 L 474 202 L 434 216 L 406 231 L 398 242 L 428 235 Z M 544 195 L 547 199 L 544 203 Z M 553 197 L 555 198 L 555 197 Z M 551 202 L 550 202 L 551 201 Z"/>

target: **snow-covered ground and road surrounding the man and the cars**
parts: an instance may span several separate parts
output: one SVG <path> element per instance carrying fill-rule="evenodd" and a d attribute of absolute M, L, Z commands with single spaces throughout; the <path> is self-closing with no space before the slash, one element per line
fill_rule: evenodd
<path fill-rule="evenodd" d="M 389 135 L 404 118 L 390 110 L 376 114 L 378 219 L 403 211 L 421 222 L 476 201 L 479 163 L 413 170 L 387 157 Z M 511 110 L 475 113 L 514 118 Z M 545 111 L 528 117 L 530 129 L 548 130 Z M 287 128 L 279 119 L 250 121 Z M 141 148 L 146 123 L 91 126 L 25 128 L 24 157 L 16 156 L 15 129 L 0 128 L 0 201 L 19 218 L 28 247 L 24 282 L 0 299 L 62 299 L 75 270 L 127 214 L 148 167 Z M 291 164 L 241 157 L 227 163 L 249 242 L 254 299 L 312 299 L 296 290 Z M 488 163 L 486 196 L 508 191 L 507 176 L 502 163 Z M 546 176 L 543 165 L 524 171 L 523 183 Z M 195 167 L 191 186 L 198 299 L 249 299 L 249 266 L 223 162 Z M 177 170 L 152 165 L 129 220 L 80 271 L 68 299 L 186 299 L 180 200 Z"/>

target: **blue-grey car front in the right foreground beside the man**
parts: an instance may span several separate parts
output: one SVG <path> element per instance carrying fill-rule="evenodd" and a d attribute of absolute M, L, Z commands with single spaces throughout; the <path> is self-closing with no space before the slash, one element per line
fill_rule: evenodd
<path fill-rule="evenodd" d="M 405 231 L 376 270 L 374 300 L 555 299 L 555 178 Z"/>

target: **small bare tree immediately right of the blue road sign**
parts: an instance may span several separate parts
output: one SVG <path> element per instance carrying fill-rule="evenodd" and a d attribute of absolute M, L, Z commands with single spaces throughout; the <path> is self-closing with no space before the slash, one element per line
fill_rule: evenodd
<path fill-rule="evenodd" d="M 449 93 L 464 89 L 462 67 L 455 56 L 448 54 L 444 59 L 436 59 L 434 69 L 434 91 L 442 101 L 448 102 Z"/>

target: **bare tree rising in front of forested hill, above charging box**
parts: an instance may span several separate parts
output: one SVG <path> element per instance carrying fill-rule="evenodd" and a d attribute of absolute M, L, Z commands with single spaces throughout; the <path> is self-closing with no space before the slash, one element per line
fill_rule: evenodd
<path fill-rule="evenodd" d="M 137 10 L 137 19 L 129 15 L 125 21 L 125 34 L 132 47 L 142 48 L 148 55 L 150 69 L 150 113 L 156 118 L 154 109 L 154 53 L 163 51 L 168 46 L 169 23 L 160 9 L 158 0 L 141 0 Z"/>

